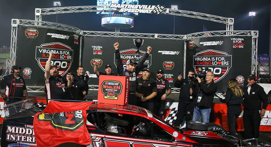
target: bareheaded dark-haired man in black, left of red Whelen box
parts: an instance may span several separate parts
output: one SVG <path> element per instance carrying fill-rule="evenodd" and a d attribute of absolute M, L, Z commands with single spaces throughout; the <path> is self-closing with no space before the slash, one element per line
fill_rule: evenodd
<path fill-rule="evenodd" d="M 84 73 L 84 67 L 78 66 L 76 69 L 77 74 L 74 75 L 74 82 L 83 82 L 84 85 L 80 88 L 80 92 L 78 93 L 77 100 L 85 100 L 86 95 L 88 94 L 88 76 L 90 75 L 89 71 L 86 71 L 85 76 Z M 86 93 L 85 95 L 83 93 Z"/>

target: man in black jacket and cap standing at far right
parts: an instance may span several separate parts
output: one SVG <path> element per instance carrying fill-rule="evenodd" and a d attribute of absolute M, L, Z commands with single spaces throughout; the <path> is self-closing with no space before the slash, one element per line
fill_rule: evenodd
<path fill-rule="evenodd" d="M 247 83 L 248 85 L 243 89 L 244 131 L 247 139 L 259 138 L 261 117 L 265 115 L 267 107 L 267 96 L 262 86 L 256 83 L 254 75 L 247 77 Z"/>

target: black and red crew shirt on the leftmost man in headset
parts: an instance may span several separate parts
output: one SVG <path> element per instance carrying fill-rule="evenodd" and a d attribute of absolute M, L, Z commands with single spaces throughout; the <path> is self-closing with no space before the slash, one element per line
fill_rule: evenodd
<path fill-rule="evenodd" d="M 21 76 L 16 78 L 13 74 L 4 76 L 0 81 L 0 85 L 1 86 L 6 85 L 5 95 L 9 97 L 23 97 L 24 90 L 26 90 L 24 78 L 22 78 Z M 10 104 L 19 101 L 21 101 L 21 99 L 11 98 L 6 103 Z"/>

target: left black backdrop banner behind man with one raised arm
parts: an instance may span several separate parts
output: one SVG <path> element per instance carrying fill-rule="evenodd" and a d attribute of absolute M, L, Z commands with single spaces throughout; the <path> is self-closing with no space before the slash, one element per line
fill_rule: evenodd
<path fill-rule="evenodd" d="M 51 64 L 59 65 L 59 75 L 75 72 L 79 65 L 81 35 L 57 29 L 20 26 L 18 29 L 16 65 L 22 67 L 26 85 L 44 86 L 44 68 L 49 52 Z"/>

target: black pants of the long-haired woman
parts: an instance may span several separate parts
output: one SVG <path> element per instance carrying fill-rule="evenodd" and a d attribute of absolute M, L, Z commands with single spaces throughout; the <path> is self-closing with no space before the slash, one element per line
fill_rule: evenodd
<path fill-rule="evenodd" d="M 241 112 L 227 111 L 227 118 L 231 136 L 236 136 L 235 120 L 238 118 L 240 114 Z"/>

